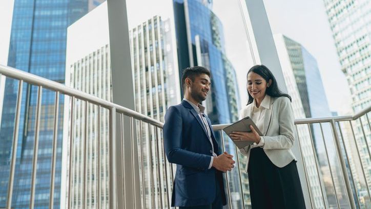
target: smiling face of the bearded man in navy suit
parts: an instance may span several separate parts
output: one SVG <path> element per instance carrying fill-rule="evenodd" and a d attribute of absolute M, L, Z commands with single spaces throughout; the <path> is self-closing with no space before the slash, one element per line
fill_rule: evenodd
<path fill-rule="evenodd" d="M 189 79 L 189 84 L 190 86 L 188 87 L 188 89 L 190 90 L 191 97 L 197 102 L 204 101 L 208 96 L 211 88 L 209 75 L 200 74 L 195 77 L 195 80 L 193 82 L 191 79 Z"/>

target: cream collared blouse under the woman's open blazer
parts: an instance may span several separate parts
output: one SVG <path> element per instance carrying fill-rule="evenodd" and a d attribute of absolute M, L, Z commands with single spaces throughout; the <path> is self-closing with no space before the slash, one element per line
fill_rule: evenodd
<path fill-rule="evenodd" d="M 256 127 L 259 128 L 260 132 L 263 131 L 264 127 L 264 116 L 265 116 L 265 111 L 269 110 L 271 105 L 271 97 L 269 95 L 265 95 L 263 98 L 263 101 L 261 101 L 261 104 L 259 107 L 256 106 L 256 100 L 254 99 L 253 101 L 253 111 L 251 114 L 251 119 L 254 121 L 256 124 Z M 264 133 L 262 133 L 264 134 Z M 260 136 L 260 142 L 259 144 L 255 143 L 251 145 L 251 148 L 255 147 L 264 147 L 265 140 L 263 136 Z"/>

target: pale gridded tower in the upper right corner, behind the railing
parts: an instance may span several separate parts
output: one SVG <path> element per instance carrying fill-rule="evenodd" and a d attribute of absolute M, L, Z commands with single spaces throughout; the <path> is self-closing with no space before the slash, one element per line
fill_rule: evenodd
<path fill-rule="evenodd" d="M 335 46 L 339 56 L 341 70 L 348 81 L 352 95 L 353 113 L 371 104 L 371 2 L 368 0 L 323 0 Z M 354 126 L 356 141 L 368 186 L 371 185 L 371 161 L 366 151 L 363 131 L 367 138 L 370 130 L 365 125 L 363 130 L 358 120 Z"/>

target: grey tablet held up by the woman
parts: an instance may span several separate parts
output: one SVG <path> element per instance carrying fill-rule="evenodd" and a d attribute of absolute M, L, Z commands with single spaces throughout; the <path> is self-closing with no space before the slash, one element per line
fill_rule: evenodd
<path fill-rule="evenodd" d="M 256 132 L 258 132 L 259 136 L 263 136 L 263 134 L 261 134 L 261 131 L 258 129 L 258 127 L 256 127 L 254 121 L 251 120 L 250 117 L 243 118 L 243 119 L 241 119 L 241 120 L 223 128 L 223 130 L 224 130 L 225 134 L 227 134 L 231 138 L 230 135 L 232 134 L 233 131 L 250 132 L 251 131 L 250 125 L 252 125 L 254 127 Z M 244 148 L 245 146 L 249 146 L 250 144 L 254 143 L 252 141 L 234 140 L 232 138 L 231 138 L 231 140 L 233 141 L 233 143 L 236 144 L 236 146 L 239 149 Z"/>

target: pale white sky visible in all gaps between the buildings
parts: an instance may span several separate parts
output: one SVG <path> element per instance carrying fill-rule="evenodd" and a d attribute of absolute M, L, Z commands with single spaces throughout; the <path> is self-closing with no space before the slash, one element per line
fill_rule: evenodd
<path fill-rule="evenodd" d="M 0 64 L 6 65 L 13 0 L 0 0 Z M 129 26 L 159 14 L 172 15 L 171 0 L 127 0 Z M 329 108 L 339 115 L 351 111 L 351 94 L 341 72 L 334 40 L 322 0 L 263 0 L 273 34 L 282 33 L 302 44 L 317 60 Z M 146 5 L 143 7 L 143 5 Z M 214 12 L 224 27 L 226 55 L 233 63 L 240 91 L 241 104 L 247 99 L 246 71 L 252 61 L 246 43 L 246 32 L 238 0 L 214 0 Z M 140 12 L 137 12 L 140 11 Z M 232 24 L 233 23 L 233 24 Z"/>

